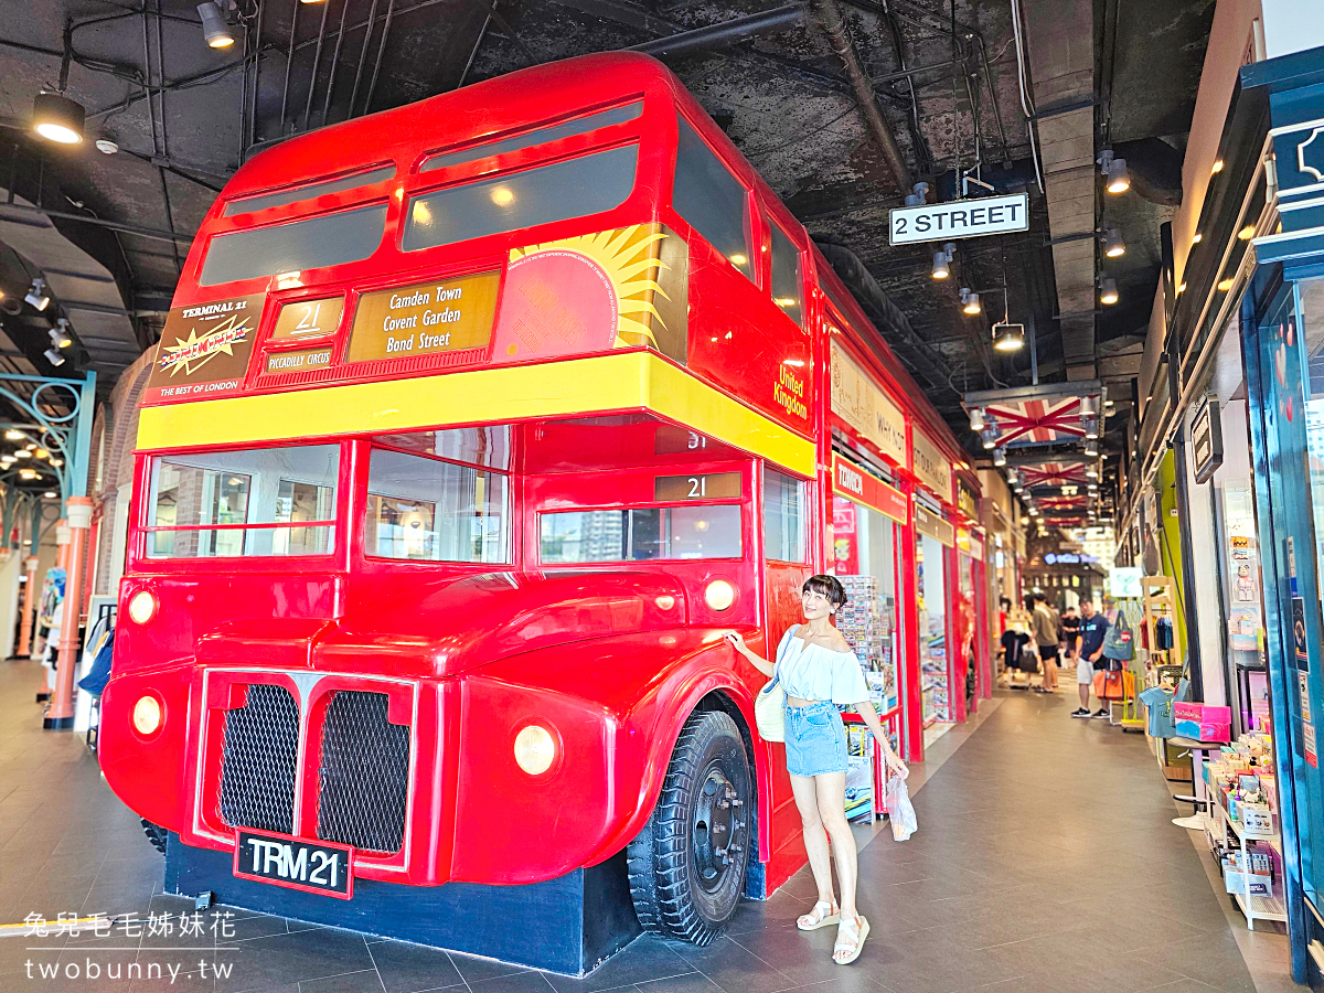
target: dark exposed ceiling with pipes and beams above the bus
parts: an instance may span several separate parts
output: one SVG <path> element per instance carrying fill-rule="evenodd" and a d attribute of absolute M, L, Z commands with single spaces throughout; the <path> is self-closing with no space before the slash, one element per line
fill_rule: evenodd
<path fill-rule="evenodd" d="M 0 315 L 8 335 L 0 368 L 26 361 L 49 373 L 42 342 L 62 312 L 79 339 L 73 367 L 97 368 L 109 388 L 159 334 L 189 236 L 216 191 L 274 140 L 532 64 L 670 40 L 679 50 L 663 61 L 810 233 L 854 253 L 907 315 L 923 348 L 898 351 L 972 451 L 982 454 L 961 395 L 1031 379 L 1027 352 L 1006 359 L 990 348 L 988 328 L 1004 315 L 1004 293 L 1012 320 L 1034 327 L 1041 379 L 1066 379 L 1068 367 L 1079 377 L 1098 372 L 1124 413 L 1158 279 L 1158 225 L 1180 200 L 1214 0 L 1148 0 L 1143 11 L 1123 0 L 1021 4 L 1031 90 L 1025 103 L 1010 0 L 814 0 L 798 8 L 745 0 L 240 0 L 238 44 L 221 50 L 203 42 L 193 0 L 30 4 L 0 29 L 0 138 L 8 146 L 0 155 L 9 160 L 0 169 L 68 246 L 19 237 L 16 225 L 45 222 L 41 213 L 0 203 L 8 246 L 0 289 L 20 293 L 26 277 L 61 269 L 58 258 L 70 253 L 97 271 L 83 278 L 79 263 L 70 277 L 78 282 L 52 279 L 58 306 L 48 314 Z M 841 38 L 834 45 L 824 30 L 833 9 L 858 77 Z M 60 85 L 66 42 L 66 93 L 87 107 L 89 139 L 115 142 L 114 155 L 91 140 L 56 147 L 28 130 L 33 95 Z M 956 196 L 969 169 L 1000 192 L 1029 191 L 1030 230 L 961 244 L 945 283 L 929 277 L 933 246 L 890 246 L 887 213 L 908 191 L 879 140 L 879 122 L 871 128 L 863 113 L 862 85 L 876 97 L 904 171 L 931 185 L 931 200 Z M 1050 169 L 1047 197 L 1035 180 L 1023 106 L 1042 115 L 1035 138 L 1041 169 Z M 1121 197 L 1102 192 L 1092 167 L 1107 142 L 1125 154 L 1135 179 Z M 1100 263 L 1088 237 L 1099 224 L 1121 232 L 1124 258 Z M 1084 237 L 1050 244 L 1061 234 Z M 1094 306 L 1099 269 L 1119 283 L 1115 307 Z M 984 314 L 961 312 L 961 286 L 982 295 Z M 118 303 L 103 299 L 106 291 Z M 78 311 L 78 302 L 106 310 Z M 1058 320 L 1076 311 L 1088 315 Z"/>

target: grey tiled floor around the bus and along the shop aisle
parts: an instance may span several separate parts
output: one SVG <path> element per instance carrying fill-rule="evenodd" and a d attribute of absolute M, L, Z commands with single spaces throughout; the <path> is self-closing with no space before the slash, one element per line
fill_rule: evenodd
<path fill-rule="evenodd" d="M 160 894 L 160 857 L 82 740 L 40 730 L 36 666 L 0 663 L 0 923 L 32 912 L 177 919 L 189 906 Z M 833 928 L 796 931 L 814 896 L 802 873 L 741 906 L 708 948 L 645 937 L 585 980 L 237 911 L 232 933 L 128 936 L 117 925 L 106 937 L 0 937 L 0 990 L 1255 993 L 1234 931 L 1243 924 L 1225 912 L 1207 857 L 1170 824 L 1144 739 L 1068 719 L 1064 694 L 994 703 L 916 767 L 914 838 L 859 829 L 873 935 L 850 968 L 830 959 Z M 89 963 L 99 977 L 87 978 Z M 118 981 L 106 978 L 115 963 Z M 142 978 L 126 977 L 131 963 Z M 160 977 L 146 976 L 152 963 Z M 217 978 L 213 963 L 230 974 Z M 42 965 L 60 977 L 41 978 Z"/>

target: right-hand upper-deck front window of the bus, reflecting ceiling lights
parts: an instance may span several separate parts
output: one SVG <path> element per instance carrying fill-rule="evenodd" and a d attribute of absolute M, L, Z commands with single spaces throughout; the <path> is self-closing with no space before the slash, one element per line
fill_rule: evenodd
<path fill-rule="evenodd" d="M 634 189 L 637 144 L 553 162 L 409 201 L 404 250 L 449 245 L 612 211 Z"/>

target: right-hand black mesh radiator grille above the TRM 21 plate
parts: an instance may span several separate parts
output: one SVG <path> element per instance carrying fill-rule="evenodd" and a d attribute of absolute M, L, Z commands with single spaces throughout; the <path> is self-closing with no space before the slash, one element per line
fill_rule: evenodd
<path fill-rule="evenodd" d="M 322 724 L 318 837 L 400 851 L 408 784 L 409 728 L 389 722 L 385 694 L 336 692 Z"/>

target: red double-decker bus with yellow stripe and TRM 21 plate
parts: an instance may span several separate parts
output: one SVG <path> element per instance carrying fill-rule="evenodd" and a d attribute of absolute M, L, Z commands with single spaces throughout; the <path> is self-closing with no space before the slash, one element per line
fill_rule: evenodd
<path fill-rule="evenodd" d="M 835 348 L 904 406 L 895 450 L 830 412 Z M 576 964 L 383 915 L 527 891 L 587 935 L 628 882 L 704 943 L 804 862 L 722 634 L 775 645 L 833 567 L 834 437 L 914 584 L 910 504 L 955 510 L 959 449 L 658 62 L 293 138 L 208 213 L 143 396 L 106 777 L 180 891 L 575 972 L 633 919 Z"/>

